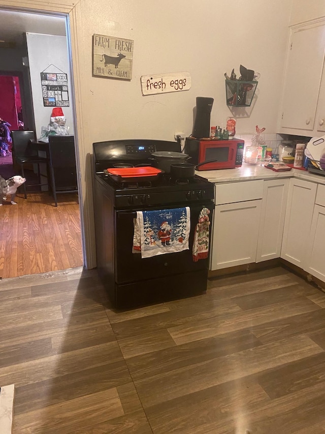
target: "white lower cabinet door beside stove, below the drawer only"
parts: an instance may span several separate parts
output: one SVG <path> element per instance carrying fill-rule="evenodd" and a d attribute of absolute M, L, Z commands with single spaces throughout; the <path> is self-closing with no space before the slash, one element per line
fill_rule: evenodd
<path fill-rule="evenodd" d="M 210 270 L 255 262 L 262 199 L 214 209 Z"/>

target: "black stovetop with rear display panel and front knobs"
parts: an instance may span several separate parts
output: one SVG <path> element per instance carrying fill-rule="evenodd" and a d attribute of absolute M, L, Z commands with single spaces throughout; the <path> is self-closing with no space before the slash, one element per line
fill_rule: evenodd
<path fill-rule="evenodd" d="M 146 177 L 145 180 L 137 178 L 118 182 L 105 173 L 107 168 L 118 162 L 134 166 L 150 164 L 151 152 L 161 150 L 180 152 L 180 146 L 176 142 L 138 139 L 93 143 L 94 176 L 110 191 L 117 208 L 180 206 L 213 200 L 214 184 L 197 175 L 176 180 L 165 173 L 164 176 Z"/>

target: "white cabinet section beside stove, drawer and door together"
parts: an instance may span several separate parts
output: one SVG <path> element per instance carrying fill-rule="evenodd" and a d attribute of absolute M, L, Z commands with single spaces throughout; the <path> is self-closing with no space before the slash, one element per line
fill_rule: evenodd
<path fill-rule="evenodd" d="M 262 180 L 216 185 L 210 270 L 255 262 L 262 195 Z"/>

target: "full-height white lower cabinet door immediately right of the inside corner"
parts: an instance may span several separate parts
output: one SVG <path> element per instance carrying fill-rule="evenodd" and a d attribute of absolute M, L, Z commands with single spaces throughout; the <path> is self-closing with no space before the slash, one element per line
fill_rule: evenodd
<path fill-rule="evenodd" d="M 305 268 L 306 249 L 317 184 L 291 178 L 284 220 L 281 257 Z"/>

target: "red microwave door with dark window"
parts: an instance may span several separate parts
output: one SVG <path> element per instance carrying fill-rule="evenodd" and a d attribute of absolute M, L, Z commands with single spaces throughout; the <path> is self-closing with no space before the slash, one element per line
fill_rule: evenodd
<path fill-rule="evenodd" d="M 202 164 L 198 170 L 231 169 L 235 167 L 237 142 L 232 140 L 200 142 L 199 162 L 211 161 Z M 213 161 L 215 160 L 215 161 Z"/>

